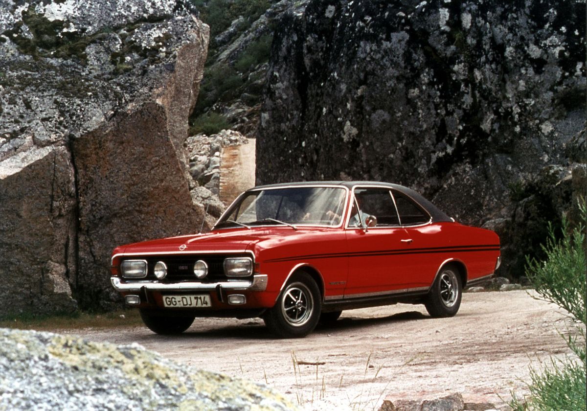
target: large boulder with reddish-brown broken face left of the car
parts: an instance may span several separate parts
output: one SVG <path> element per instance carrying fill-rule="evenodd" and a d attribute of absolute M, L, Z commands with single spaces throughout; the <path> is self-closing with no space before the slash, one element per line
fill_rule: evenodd
<path fill-rule="evenodd" d="M 116 245 L 200 227 L 183 145 L 208 26 L 188 5 L 0 6 L 0 316 L 108 308 Z"/>

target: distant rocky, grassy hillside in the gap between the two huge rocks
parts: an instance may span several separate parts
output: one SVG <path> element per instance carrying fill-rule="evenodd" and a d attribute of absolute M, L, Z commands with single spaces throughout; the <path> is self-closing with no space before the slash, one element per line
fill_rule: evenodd
<path fill-rule="evenodd" d="M 220 2 L 215 2 L 218 4 Z M 243 4 L 244 1 L 241 8 Z M 261 8 L 263 4 L 266 9 L 260 15 L 238 15 L 230 26 L 211 40 L 201 98 L 192 114 L 193 120 L 204 113 L 214 112 L 221 114 L 232 129 L 247 137 L 257 136 L 261 95 L 275 25 L 286 13 L 303 12 L 308 0 L 249 2 L 253 9 Z M 217 32 L 218 25 L 214 23 L 218 22 L 219 10 L 211 11 L 213 5 L 214 2 L 207 2 L 201 12 L 204 21 L 210 22 L 212 32 Z M 233 2 L 225 3 L 227 10 L 222 14 L 230 16 L 233 7 L 239 8 Z"/>

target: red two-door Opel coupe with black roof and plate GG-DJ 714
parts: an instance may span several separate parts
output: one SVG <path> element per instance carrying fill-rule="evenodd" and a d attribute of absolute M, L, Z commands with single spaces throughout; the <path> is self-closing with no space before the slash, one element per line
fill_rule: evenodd
<path fill-rule="evenodd" d="M 463 288 L 499 264 L 497 234 L 410 188 L 293 183 L 245 191 L 210 233 L 117 247 L 112 285 L 156 333 L 200 316 L 261 317 L 291 338 L 345 309 L 396 302 L 453 316 Z"/>

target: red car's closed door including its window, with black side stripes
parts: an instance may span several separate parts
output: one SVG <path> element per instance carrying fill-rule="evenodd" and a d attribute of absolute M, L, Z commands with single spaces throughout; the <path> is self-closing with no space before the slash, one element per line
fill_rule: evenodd
<path fill-rule="evenodd" d="M 349 255 L 345 298 L 375 297 L 410 288 L 412 281 L 404 268 L 412 258 L 404 254 L 410 244 L 389 188 L 355 187 L 353 203 L 363 226 L 353 227 L 356 211 L 351 210 L 345 230 Z M 375 226 L 365 227 L 366 215 L 376 218 Z"/>

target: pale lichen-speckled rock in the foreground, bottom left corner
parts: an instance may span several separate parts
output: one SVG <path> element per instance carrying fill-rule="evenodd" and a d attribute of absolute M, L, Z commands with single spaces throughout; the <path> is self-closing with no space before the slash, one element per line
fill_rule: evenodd
<path fill-rule="evenodd" d="M 138 344 L 0 329 L 1 409 L 295 410 L 267 386 L 195 370 Z"/>

